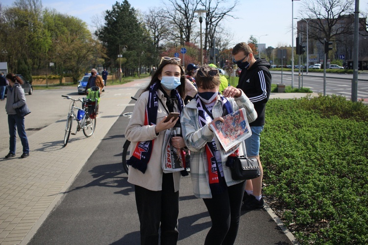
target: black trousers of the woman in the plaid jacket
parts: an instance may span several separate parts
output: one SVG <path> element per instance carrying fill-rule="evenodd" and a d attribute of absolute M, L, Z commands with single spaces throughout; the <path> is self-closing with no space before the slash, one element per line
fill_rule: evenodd
<path fill-rule="evenodd" d="M 245 181 L 227 187 L 222 193 L 212 194 L 212 198 L 203 199 L 212 221 L 205 245 L 233 245 L 235 243 L 244 188 Z"/>

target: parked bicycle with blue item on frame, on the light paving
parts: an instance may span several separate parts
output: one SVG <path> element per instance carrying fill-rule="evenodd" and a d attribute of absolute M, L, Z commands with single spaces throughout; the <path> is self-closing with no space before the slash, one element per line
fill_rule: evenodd
<path fill-rule="evenodd" d="M 65 97 L 67 99 L 73 100 L 70 107 L 70 112 L 68 113 L 68 118 L 65 126 L 65 134 L 64 134 L 64 147 L 68 144 L 70 134 L 76 135 L 80 129 L 83 130 L 83 134 L 86 137 L 91 137 L 96 128 L 96 101 L 92 101 L 88 98 L 78 98 L 74 99 L 69 96 L 62 95 L 61 97 Z M 76 106 L 77 101 L 82 103 L 82 108 Z M 91 110 L 92 107 L 92 110 Z M 93 108 L 94 107 L 94 108 Z M 74 109 L 78 109 L 78 114 L 76 116 Z M 72 132 L 73 119 L 77 120 L 77 130 L 75 133 Z"/>

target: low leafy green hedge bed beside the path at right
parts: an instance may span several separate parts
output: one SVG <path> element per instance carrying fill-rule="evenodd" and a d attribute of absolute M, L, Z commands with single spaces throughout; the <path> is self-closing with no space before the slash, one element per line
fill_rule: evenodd
<path fill-rule="evenodd" d="M 263 195 L 301 244 L 368 244 L 368 107 L 341 96 L 271 99 Z"/>

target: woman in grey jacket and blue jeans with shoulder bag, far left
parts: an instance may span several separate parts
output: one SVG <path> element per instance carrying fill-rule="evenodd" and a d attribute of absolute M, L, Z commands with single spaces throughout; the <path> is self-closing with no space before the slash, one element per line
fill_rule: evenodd
<path fill-rule="evenodd" d="M 23 84 L 23 80 L 19 76 L 14 75 L 13 73 L 8 73 L 6 75 L 6 79 L 9 82 L 9 86 L 8 92 L 6 94 L 5 110 L 6 114 L 8 114 L 10 139 L 9 139 L 9 153 L 5 156 L 5 158 L 12 158 L 15 156 L 15 142 L 16 142 L 17 129 L 19 138 L 21 138 L 23 146 L 23 154 L 21 155 L 21 157 L 26 158 L 27 156 L 29 156 L 29 145 L 24 125 L 24 117 L 18 116 L 17 112 L 15 111 L 15 108 L 19 108 L 22 105 L 26 104 L 26 96 L 24 94 L 23 88 L 21 87 L 21 85 Z"/>

